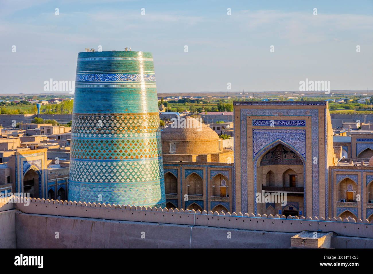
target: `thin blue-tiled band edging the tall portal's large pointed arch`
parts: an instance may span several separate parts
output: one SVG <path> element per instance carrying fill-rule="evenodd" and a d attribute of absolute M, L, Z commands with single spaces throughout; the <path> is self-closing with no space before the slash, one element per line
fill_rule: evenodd
<path fill-rule="evenodd" d="M 306 195 L 305 195 L 305 182 L 306 182 L 306 160 L 303 157 L 303 155 L 297 151 L 292 145 L 289 145 L 288 143 L 277 139 L 276 141 L 273 141 L 272 143 L 266 145 L 264 148 L 262 148 L 253 158 L 253 169 L 254 169 L 254 193 L 257 193 L 257 169 L 258 169 L 258 163 L 260 164 L 261 159 L 264 157 L 266 152 L 268 152 L 271 148 L 275 147 L 276 145 L 283 145 L 289 149 L 291 149 L 295 154 L 298 155 L 298 157 L 302 160 L 303 162 L 303 202 L 304 202 L 304 215 L 306 214 Z M 256 196 L 254 195 L 254 212 L 257 214 L 257 202 L 256 202 Z"/>

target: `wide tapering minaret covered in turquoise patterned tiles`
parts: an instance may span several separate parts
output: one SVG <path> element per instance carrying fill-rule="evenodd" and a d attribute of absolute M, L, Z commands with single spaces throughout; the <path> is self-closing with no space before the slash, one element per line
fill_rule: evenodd
<path fill-rule="evenodd" d="M 153 55 L 78 53 L 69 200 L 165 207 Z"/>

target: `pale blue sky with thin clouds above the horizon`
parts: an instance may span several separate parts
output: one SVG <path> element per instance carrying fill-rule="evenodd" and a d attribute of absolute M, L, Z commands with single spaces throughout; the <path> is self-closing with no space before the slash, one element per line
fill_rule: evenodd
<path fill-rule="evenodd" d="M 159 93 L 227 91 L 228 82 L 292 91 L 305 78 L 373 89 L 372 0 L 0 0 L 0 93 L 74 80 L 77 53 L 98 45 L 151 51 Z"/>

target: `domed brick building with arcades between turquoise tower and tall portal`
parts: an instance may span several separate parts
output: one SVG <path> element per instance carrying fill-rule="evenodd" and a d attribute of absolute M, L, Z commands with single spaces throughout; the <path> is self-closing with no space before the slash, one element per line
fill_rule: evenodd
<path fill-rule="evenodd" d="M 232 212 L 233 151 L 210 127 L 185 119 L 194 126 L 161 132 L 166 207 Z"/>

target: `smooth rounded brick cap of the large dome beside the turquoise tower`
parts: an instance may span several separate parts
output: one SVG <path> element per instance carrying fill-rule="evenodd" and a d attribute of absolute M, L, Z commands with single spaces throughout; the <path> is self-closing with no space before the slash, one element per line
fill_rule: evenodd
<path fill-rule="evenodd" d="M 186 127 L 182 124 L 183 118 L 185 118 Z M 166 127 L 161 132 L 161 138 L 162 141 L 197 141 L 219 139 L 219 136 L 210 127 L 191 116 L 186 116 L 180 118 L 180 127 Z"/>

